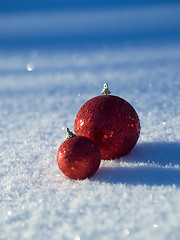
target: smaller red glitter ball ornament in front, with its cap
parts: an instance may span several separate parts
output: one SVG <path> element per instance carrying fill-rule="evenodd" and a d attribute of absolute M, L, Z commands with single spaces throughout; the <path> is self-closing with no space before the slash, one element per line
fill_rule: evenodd
<path fill-rule="evenodd" d="M 67 128 L 67 139 L 57 152 L 57 163 L 64 175 L 72 179 L 90 178 L 98 170 L 101 155 L 89 138 L 76 136 Z"/>

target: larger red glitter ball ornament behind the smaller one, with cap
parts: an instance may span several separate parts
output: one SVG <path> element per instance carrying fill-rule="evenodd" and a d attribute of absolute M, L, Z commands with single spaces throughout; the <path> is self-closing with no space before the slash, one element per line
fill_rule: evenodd
<path fill-rule="evenodd" d="M 87 101 L 77 113 L 74 132 L 90 138 L 99 147 L 102 159 L 128 154 L 140 134 L 140 121 L 134 108 L 124 99 L 109 95 L 108 84 L 102 93 Z"/>

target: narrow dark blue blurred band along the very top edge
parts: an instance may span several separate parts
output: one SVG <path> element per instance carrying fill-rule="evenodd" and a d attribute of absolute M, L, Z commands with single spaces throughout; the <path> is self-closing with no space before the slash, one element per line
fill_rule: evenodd
<path fill-rule="evenodd" d="M 0 12 L 24 12 L 58 9 L 122 8 L 178 4 L 178 0 L 1 0 Z"/>

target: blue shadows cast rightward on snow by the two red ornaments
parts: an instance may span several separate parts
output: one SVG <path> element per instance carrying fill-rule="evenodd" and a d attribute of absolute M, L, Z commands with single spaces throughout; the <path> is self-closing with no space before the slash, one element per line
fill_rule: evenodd
<path fill-rule="evenodd" d="M 141 143 L 121 161 L 149 164 L 134 167 L 101 167 L 92 180 L 112 184 L 146 184 L 149 186 L 174 184 L 180 187 L 180 168 L 175 168 L 180 164 L 180 143 Z M 156 165 L 152 166 L 151 163 Z M 166 165 L 168 165 L 167 168 Z"/>

